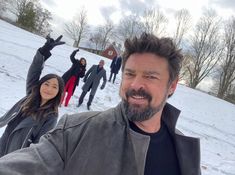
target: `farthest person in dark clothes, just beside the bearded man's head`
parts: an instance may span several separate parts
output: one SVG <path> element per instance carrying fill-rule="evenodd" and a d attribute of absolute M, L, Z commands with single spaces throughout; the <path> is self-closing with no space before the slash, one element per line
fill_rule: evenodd
<path fill-rule="evenodd" d="M 122 65 L 122 57 L 115 56 L 112 60 L 111 65 L 110 65 L 111 71 L 110 71 L 109 82 L 111 82 L 112 76 L 113 76 L 113 83 L 115 82 L 116 75 L 118 74 L 118 71 L 121 68 L 121 65 Z"/>

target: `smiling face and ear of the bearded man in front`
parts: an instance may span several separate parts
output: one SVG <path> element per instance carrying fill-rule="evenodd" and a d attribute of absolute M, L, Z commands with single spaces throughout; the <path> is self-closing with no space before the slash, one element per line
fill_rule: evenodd
<path fill-rule="evenodd" d="M 169 84 L 166 59 L 151 53 L 130 55 L 124 67 L 120 96 L 131 121 L 144 121 L 161 112 L 177 80 Z"/>

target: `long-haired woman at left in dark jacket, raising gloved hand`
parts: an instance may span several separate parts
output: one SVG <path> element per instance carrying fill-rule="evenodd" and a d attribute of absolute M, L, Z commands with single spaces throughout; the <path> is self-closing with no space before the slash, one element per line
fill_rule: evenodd
<path fill-rule="evenodd" d="M 39 48 L 28 70 L 26 96 L 0 117 L 0 127 L 7 125 L 0 138 L 0 157 L 37 143 L 56 125 L 63 79 L 56 74 L 39 78 L 44 62 L 51 56 L 50 50 L 64 44 L 61 38 L 54 40 L 47 37 L 47 42 Z"/>

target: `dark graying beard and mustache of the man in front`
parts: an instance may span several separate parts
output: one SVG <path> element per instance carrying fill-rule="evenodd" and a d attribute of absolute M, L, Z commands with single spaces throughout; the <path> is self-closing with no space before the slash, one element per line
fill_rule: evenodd
<path fill-rule="evenodd" d="M 128 98 L 135 95 L 147 99 L 148 105 L 146 107 L 142 107 L 141 105 L 138 104 L 130 104 L 128 102 Z M 133 89 L 128 90 L 126 92 L 126 98 L 127 100 L 123 99 L 123 102 L 127 118 L 132 122 L 134 121 L 141 122 L 152 118 L 154 114 L 158 113 L 164 107 L 167 94 L 165 94 L 161 103 L 156 107 L 152 107 L 150 105 L 150 102 L 152 101 L 152 96 L 143 89 L 139 89 L 138 91 Z"/>

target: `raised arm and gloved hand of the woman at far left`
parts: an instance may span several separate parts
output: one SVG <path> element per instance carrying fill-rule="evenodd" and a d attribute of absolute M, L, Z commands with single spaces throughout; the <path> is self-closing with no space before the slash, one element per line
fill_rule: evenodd
<path fill-rule="evenodd" d="M 58 45 L 64 44 L 65 42 L 60 41 L 62 35 L 59 36 L 56 40 L 53 38 L 47 37 L 46 43 L 38 49 L 36 55 L 33 58 L 31 63 L 26 80 L 26 94 L 31 93 L 32 87 L 39 81 L 44 62 L 51 56 L 51 50 Z"/>

